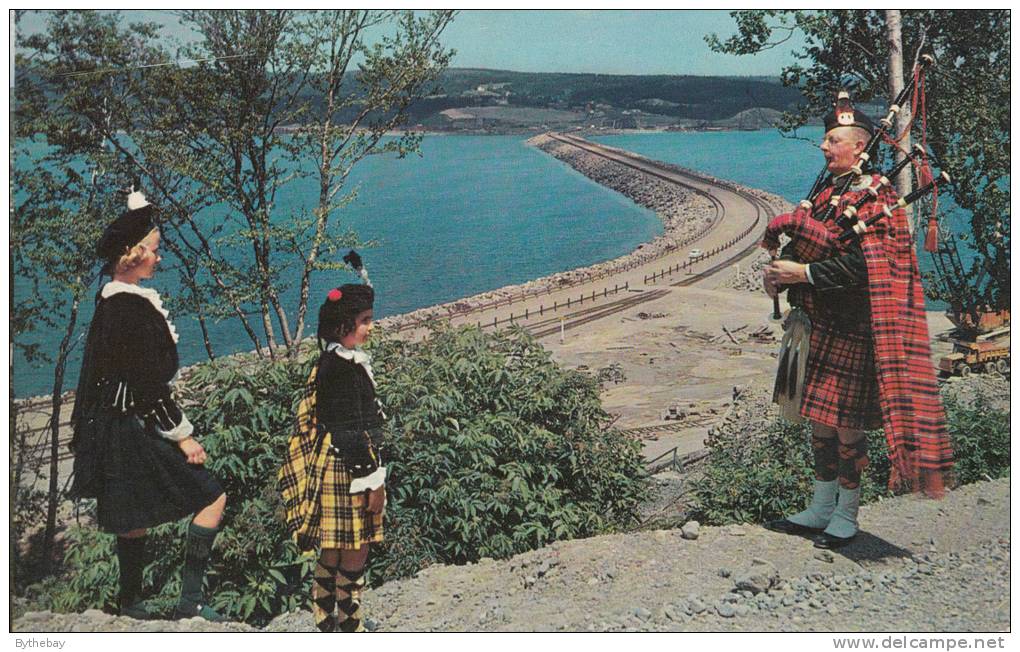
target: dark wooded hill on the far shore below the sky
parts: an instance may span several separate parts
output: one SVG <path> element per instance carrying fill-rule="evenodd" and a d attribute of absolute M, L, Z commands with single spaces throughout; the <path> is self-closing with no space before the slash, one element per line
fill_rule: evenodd
<path fill-rule="evenodd" d="M 343 92 L 357 93 L 355 72 L 348 73 Z M 800 102 L 796 89 L 760 77 L 450 68 L 408 112 L 412 127 L 454 132 L 766 129 Z M 360 110 L 354 103 L 338 121 L 349 121 Z"/>

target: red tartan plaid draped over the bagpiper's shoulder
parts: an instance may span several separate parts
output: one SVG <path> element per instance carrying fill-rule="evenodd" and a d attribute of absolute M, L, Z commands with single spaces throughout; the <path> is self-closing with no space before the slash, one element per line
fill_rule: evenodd
<path fill-rule="evenodd" d="M 815 205 L 827 203 L 831 192 L 829 188 L 820 193 Z M 855 198 L 840 199 L 839 211 Z M 884 188 L 878 200 L 865 204 L 858 215 L 868 219 L 896 200 L 896 192 Z M 805 210 L 774 218 L 762 246 L 775 249 L 780 233 L 793 239 L 801 262 L 823 260 L 843 251 L 838 234 Z M 937 498 L 945 494 L 953 452 L 931 364 L 924 291 L 906 211 L 894 210 L 891 222 L 881 218 L 870 227 L 861 248 L 868 266 L 879 404 L 891 462 L 889 486 Z"/>

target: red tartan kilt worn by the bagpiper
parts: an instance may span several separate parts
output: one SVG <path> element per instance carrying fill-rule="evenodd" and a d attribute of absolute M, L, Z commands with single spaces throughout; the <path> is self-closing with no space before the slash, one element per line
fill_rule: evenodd
<path fill-rule="evenodd" d="M 882 427 L 874 343 L 867 321 L 837 328 L 812 318 L 801 415 L 861 431 Z"/>

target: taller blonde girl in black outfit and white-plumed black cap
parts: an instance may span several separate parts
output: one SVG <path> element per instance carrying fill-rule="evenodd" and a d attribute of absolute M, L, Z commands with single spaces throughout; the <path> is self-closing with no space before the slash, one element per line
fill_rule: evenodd
<path fill-rule="evenodd" d="M 170 392 L 176 330 L 159 294 L 139 285 L 160 261 L 155 216 L 132 192 L 99 242 L 111 280 L 96 297 L 71 413 L 71 495 L 95 498 L 99 526 L 117 536 L 120 614 L 135 618 L 150 615 L 141 599 L 147 530 L 191 515 L 174 617 L 221 620 L 202 584 L 226 495 Z"/>

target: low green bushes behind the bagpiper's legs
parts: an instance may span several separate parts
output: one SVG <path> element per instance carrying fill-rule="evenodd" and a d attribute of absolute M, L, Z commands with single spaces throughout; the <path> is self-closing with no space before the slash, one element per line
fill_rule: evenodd
<path fill-rule="evenodd" d="M 969 403 L 944 392 L 958 484 L 1009 474 L 1009 413 L 977 393 Z M 749 415 L 749 419 L 760 418 Z M 811 434 L 807 424 L 779 419 L 767 424 L 745 421 L 741 428 L 714 429 L 707 440 L 711 454 L 698 481 L 692 505 L 702 522 L 764 522 L 804 509 L 814 479 Z M 861 478 L 861 502 L 887 497 L 889 460 L 882 431 L 867 433 L 871 460 Z"/>

